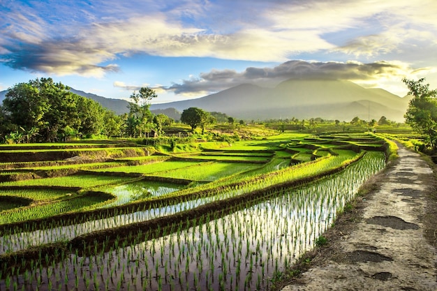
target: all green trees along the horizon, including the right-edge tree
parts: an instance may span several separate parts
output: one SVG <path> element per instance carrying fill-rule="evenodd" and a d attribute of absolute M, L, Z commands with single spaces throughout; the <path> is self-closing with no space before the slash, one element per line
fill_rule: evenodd
<path fill-rule="evenodd" d="M 437 90 L 429 89 L 425 79 L 418 81 L 403 79 L 413 96 L 405 114 L 406 124 L 424 135 L 429 148 L 437 151 Z M 165 114 L 152 114 L 150 101 L 156 92 L 143 87 L 131 94 L 129 112 L 117 116 L 94 100 L 69 91 L 70 88 L 52 78 L 30 80 L 15 84 L 8 89 L 3 105 L 0 105 L 0 142 L 58 142 L 72 137 L 149 137 L 149 133 L 163 132 L 174 120 Z M 182 112 L 180 121 L 196 128 L 216 122 L 234 124 L 235 120 L 220 112 L 206 112 L 191 107 Z M 281 121 L 283 122 L 283 121 Z M 350 124 L 390 124 L 385 117 L 380 120 L 364 121 L 355 117 Z M 305 125 L 305 121 L 291 119 L 290 124 Z M 323 123 L 323 119 L 309 119 L 309 126 Z M 239 124 L 245 124 L 240 120 Z M 340 121 L 335 124 L 339 126 Z M 153 131 L 152 131 L 153 130 Z"/>

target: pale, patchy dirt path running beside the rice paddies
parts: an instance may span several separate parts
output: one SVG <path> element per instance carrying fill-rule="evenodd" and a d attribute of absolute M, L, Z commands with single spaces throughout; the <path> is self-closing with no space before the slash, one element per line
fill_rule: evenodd
<path fill-rule="evenodd" d="M 399 159 L 371 183 L 376 190 L 327 233 L 329 245 L 316 251 L 311 269 L 283 291 L 437 290 L 431 167 L 399 146 Z"/>

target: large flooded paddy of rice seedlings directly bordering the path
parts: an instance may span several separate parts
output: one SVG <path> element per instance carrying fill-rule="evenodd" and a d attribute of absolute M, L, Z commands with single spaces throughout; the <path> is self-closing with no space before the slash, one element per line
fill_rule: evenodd
<path fill-rule="evenodd" d="M 341 174 L 242 205 L 233 214 L 207 214 L 189 228 L 175 223 L 160 238 L 131 234 L 138 236 L 134 244 L 117 240 L 108 252 L 104 246 L 84 245 L 62 251 L 59 263 L 47 259 L 47 267 L 40 255 L 24 273 L 20 267 L 6 272 L 1 266 L 6 275 L 0 289 L 267 290 L 272 278 L 313 247 L 357 188 L 383 166 L 381 154 L 367 155 Z"/>

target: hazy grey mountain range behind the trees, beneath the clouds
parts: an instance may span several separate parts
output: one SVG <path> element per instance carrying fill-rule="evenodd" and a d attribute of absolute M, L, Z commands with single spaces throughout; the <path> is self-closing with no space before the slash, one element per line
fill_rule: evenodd
<path fill-rule="evenodd" d="M 126 100 L 104 98 L 75 89 L 71 91 L 94 99 L 117 114 L 128 112 Z M 5 94 L 6 91 L 1 92 L 1 101 Z M 354 117 L 378 120 L 385 116 L 402 122 L 409 100 L 409 96 L 401 98 L 383 89 L 365 89 L 349 81 L 293 79 L 274 88 L 241 84 L 202 98 L 152 104 L 150 110 L 162 112 L 175 108 L 182 112 L 188 107 L 199 107 L 246 120 L 320 117 L 350 121 Z"/>

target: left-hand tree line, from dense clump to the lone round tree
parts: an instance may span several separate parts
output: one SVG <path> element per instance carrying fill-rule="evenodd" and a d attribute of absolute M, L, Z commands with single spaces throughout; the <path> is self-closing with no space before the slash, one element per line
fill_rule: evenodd
<path fill-rule="evenodd" d="M 70 88 L 52 78 L 37 78 L 15 84 L 8 89 L 0 105 L 0 137 L 7 143 L 59 142 L 76 137 L 154 137 L 163 133 L 173 119 L 165 114 L 152 114 L 150 101 L 156 92 L 142 87 L 131 94 L 129 112 L 117 115 L 100 103 L 74 94 Z M 205 112 L 191 107 L 181 114 L 182 123 L 205 126 L 232 117 L 220 112 Z M 150 134 L 153 133 L 153 136 Z"/>

